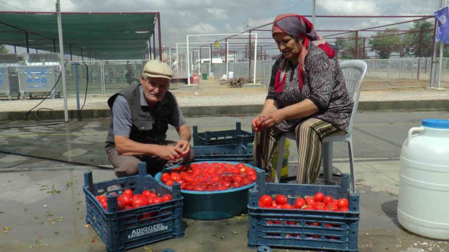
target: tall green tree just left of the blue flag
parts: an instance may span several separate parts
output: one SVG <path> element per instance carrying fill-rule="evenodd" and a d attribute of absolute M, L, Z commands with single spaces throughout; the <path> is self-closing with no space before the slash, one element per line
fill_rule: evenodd
<path fill-rule="evenodd" d="M 434 23 L 426 20 L 417 20 L 413 22 L 410 30 L 420 30 L 421 32 L 413 32 L 405 34 L 403 44 L 405 45 L 404 53 L 409 57 L 419 57 L 420 36 L 421 41 L 421 57 L 432 57 L 432 45 L 434 42 Z"/>

